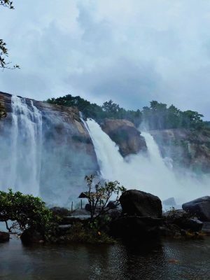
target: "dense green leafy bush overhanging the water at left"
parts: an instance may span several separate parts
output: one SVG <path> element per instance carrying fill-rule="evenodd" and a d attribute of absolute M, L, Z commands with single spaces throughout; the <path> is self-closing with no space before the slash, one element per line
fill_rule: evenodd
<path fill-rule="evenodd" d="M 14 223 L 8 230 L 30 228 L 46 236 L 55 227 L 56 218 L 39 197 L 9 189 L 8 193 L 0 191 L 0 221 L 7 224 L 9 220 Z"/>

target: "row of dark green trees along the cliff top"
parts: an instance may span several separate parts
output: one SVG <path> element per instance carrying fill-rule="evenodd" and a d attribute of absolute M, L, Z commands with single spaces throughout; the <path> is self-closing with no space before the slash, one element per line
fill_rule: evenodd
<path fill-rule="evenodd" d="M 202 130 L 204 127 L 209 128 L 208 122 L 202 120 L 202 114 L 196 111 L 181 111 L 174 105 L 150 102 L 150 106 L 145 106 L 142 110 L 126 110 L 121 108 L 112 100 L 104 102 L 102 106 L 92 104 L 89 101 L 71 94 L 64 97 L 48 99 L 49 104 L 62 106 L 76 106 L 83 113 L 85 118 L 94 118 L 103 120 L 104 118 L 126 119 L 132 121 L 134 125 L 139 126 L 144 123 L 150 130 L 187 128 L 191 130 Z"/>

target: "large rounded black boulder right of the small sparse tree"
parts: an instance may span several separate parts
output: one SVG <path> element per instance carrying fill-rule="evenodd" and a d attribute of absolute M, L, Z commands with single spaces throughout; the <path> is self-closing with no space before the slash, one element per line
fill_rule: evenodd
<path fill-rule="evenodd" d="M 141 190 L 127 190 L 120 197 L 124 214 L 139 217 L 162 217 L 162 203 L 159 197 Z"/>

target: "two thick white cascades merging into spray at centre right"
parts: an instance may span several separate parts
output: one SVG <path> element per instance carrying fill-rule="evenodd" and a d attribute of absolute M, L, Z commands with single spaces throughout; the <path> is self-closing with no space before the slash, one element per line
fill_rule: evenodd
<path fill-rule="evenodd" d="M 148 132 L 141 133 L 148 152 L 124 159 L 118 146 L 94 120 L 87 120 L 87 125 L 104 179 L 118 180 L 127 189 L 144 190 L 161 200 L 174 197 L 179 204 L 209 195 L 209 176 L 198 180 L 192 174 L 175 174 L 162 159 L 158 145 Z"/>

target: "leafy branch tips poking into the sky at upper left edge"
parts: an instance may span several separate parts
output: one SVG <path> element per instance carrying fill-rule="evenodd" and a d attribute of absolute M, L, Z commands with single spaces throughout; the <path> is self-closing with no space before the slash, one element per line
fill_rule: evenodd
<path fill-rule="evenodd" d="M 0 0 L 0 6 L 9 8 L 11 10 L 14 9 L 13 7 L 13 1 L 9 0 Z M 20 68 L 17 64 L 10 66 L 11 62 L 7 61 L 8 57 L 8 48 L 6 48 L 6 43 L 3 41 L 3 39 L 0 39 L 0 68 L 1 69 L 16 69 Z"/>

